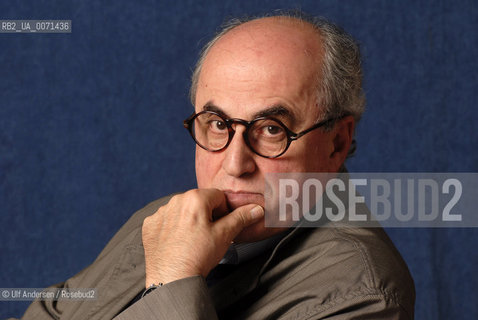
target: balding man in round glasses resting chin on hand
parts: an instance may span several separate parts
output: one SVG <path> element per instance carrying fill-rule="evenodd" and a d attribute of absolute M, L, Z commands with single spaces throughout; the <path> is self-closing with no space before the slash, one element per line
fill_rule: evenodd
<path fill-rule="evenodd" d="M 267 173 L 344 171 L 364 104 L 349 36 L 299 16 L 235 21 L 204 49 L 191 98 L 198 189 L 137 212 L 57 286 L 96 301 L 36 301 L 25 319 L 413 318 L 381 229 L 264 224 Z"/>

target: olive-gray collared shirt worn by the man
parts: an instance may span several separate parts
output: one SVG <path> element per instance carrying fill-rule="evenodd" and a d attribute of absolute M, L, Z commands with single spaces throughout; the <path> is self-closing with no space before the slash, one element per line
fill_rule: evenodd
<path fill-rule="evenodd" d="M 56 285 L 97 288 L 96 301 L 35 301 L 22 319 L 413 319 L 413 280 L 390 239 L 347 226 L 297 228 L 212 287 L 181 279 L 126 308 L 144 289 L 142 222 L 168 200 L 138 211 L 93 264 Z"/>

